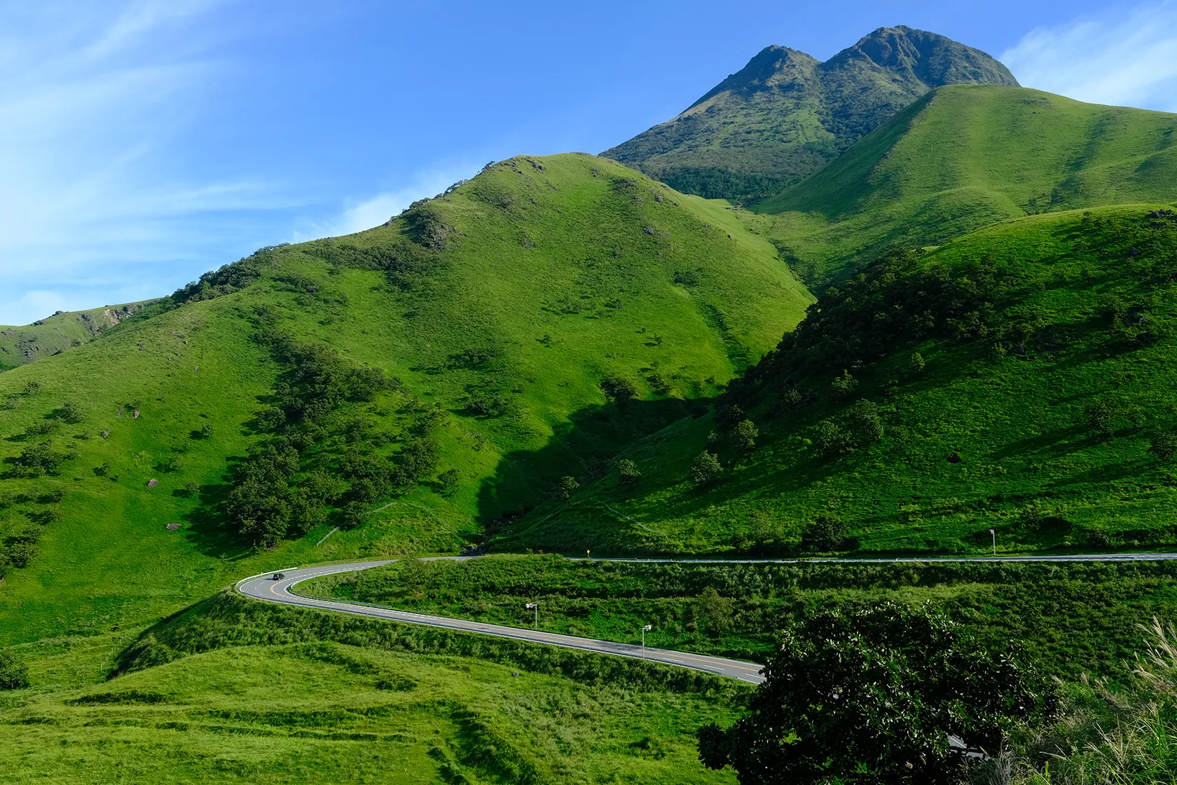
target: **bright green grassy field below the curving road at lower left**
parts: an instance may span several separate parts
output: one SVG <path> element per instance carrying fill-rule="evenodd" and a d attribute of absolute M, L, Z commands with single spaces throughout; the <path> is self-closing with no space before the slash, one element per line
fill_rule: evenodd
<path fill-rule="evenodd" d="M 337 643 L 231 647 L 95 684 L 119 643 L 21 647 L 34 687 L 0 697 L 6 783 L 734 781 L 697 760 L 696 727 L 732 717 L 701 694 Z"/>

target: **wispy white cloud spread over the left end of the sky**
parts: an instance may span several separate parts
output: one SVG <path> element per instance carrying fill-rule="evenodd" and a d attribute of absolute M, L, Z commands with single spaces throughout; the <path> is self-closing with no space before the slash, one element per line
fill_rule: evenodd
<path fill-rule="evenodd" d="M 224 241 L 184 217 L 281 204 L 272 184 L 177 161 L 191 107 L 227 68 L 193 32 L 220 5 L 0 7 L 0 324 L 164 293 Z"/>

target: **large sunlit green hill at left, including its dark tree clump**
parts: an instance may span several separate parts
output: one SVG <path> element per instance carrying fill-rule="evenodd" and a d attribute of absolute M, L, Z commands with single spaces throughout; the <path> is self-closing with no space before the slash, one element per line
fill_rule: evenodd
<path fill-rule="evenodd" d="M 126 626 L 291 560 L 464 547 L 705 411 L 809 301 L 731 211 L 590 155 L 264 248 L 0 374 L 0 636 Z"/>

